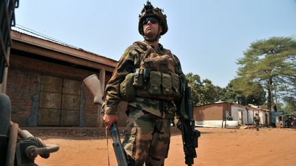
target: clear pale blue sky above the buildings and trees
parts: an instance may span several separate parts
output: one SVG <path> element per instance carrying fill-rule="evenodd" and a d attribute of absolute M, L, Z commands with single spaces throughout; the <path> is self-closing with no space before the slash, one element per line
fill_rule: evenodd
<path fill-rule="evenodd" d="M 146 0 L 20 0 L 16 24 L 119 60 L 136 40 Z M 184 73 L 225 87 L 251 42 L 296 37 L 296 0 L 151 0 L 164 9 L 169 31 L 160 38 L 179 57 Z M 18 31 L 20 29 L 14 28 Z"/>

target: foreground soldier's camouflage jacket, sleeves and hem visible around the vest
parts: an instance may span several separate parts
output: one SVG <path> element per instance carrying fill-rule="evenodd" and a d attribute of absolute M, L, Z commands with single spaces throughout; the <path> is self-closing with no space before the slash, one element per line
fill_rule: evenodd
<path fill-rule="evenodd" d="M 134 70 L 139 67 L 144 49 L 145 48 L 143 48 L 143 45 L 141 46 L 140 44 L 137 44 L 135 42 L 134 44 L 129 46 L 121 56 L 121 59 L 119 60 L 119 63 L 117 64 L 110 81 L 106 85 L 106 98 L 103 103 L 103 111 L 105 111 L 106 114 L 116 114 L 117 105 L 119 105 L 119 102 L 121 101 L 119 85 L 125 79 L 125 76 L 127 74 L 134 72 Z M 163 46 L 159 44 L 159 48 L 155 49 L 155 51 L 159 55 L 163 55 L 169 50 L 164 49 Z M 184 78 L 185 76 L 182 72 L 180 61 L 175 55 L 173 56 L 175 57 L 176 61 L 175 72 L 176 74 L 179 74 L 180 77 Z M 158 115 L 165 118 L 173 117 L 175 110 L 180 107 L 180 104 L 181 100 L 166 101 L 159 99 L 153 100 L 153 98 L 151 99 L 142 97 L 136 97 L 135 100 L 128 102 L 128 105 L 132 107 L 136 107 L 137 109 L 142 109 L 144 111 L 152 113 L 153 115 Z"/>

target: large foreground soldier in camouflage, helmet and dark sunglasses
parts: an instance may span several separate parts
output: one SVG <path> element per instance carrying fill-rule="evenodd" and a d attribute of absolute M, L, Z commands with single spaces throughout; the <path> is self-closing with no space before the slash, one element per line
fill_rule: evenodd
<path fill-rule="evenodd" d="M 119 120 L 117 105 L 127 101 L 123 147 L 129 165 L 164 165 L 185 76 L 179 59 L 159 43 L 168 31 L 167 16 L 149 1 L 139 15 L 138 31 L 144 41 L 125 50 L 106 85 L 103 120 L 110 128 Z"/>

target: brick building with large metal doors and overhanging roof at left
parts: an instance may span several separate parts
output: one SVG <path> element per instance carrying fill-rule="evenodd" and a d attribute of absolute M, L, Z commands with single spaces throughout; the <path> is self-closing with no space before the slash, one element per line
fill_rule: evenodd
<path fill-rule="evenodd" d="M 117 61 L 18 31 L 11 36 L 5 85 L 12 121 L 20 126 L 101 126 L 100 109 L 83 79 L 97 74 L 104 88 Z M 120 109 L 125 106 L 121 103 Z M 125 126 L 126 116 L 119 117 L 119 126 Z"/>

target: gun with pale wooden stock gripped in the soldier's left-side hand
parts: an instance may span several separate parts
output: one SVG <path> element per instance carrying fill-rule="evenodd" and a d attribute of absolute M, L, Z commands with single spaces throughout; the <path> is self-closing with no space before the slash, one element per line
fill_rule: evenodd
<path fill-rule="evenodd" d="M 94 103 L 96 105 L 103 105 L 103 89 L 101 87 L 101 82 L 97 78 L 97 75 L 90 75 L 89 77 L 84 79 L 84 83 L 86 84 L 86 87 L 90 89 L 90 92 L 93 94 Z M 112 124 L 110 128 L 110 133 L 113 140 L 112 146 L 115 152 L 116 161 L 118 165 L 127 166 L 127 158 L 125 155 L 125 151 L 123 149 L 123 145 L 121 144 L 121 139 L 119 137 L 119 132 L 116 123 Z"/>

